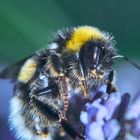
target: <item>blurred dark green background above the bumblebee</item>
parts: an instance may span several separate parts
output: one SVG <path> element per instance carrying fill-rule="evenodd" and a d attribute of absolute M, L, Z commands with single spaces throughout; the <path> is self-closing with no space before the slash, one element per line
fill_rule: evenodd
<path fill-rule="evenodd" d="M 121 54 L 140 59 L 139 0 L 0 0 L 0 63 L 46 46 L 57 29 L 85 24 L 112 33 Z"/>

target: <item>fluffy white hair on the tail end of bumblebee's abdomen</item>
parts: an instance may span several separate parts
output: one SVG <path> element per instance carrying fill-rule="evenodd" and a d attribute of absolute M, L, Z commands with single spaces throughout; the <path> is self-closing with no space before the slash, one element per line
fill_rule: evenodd
<path fill-rule="evenodd" d="M 21 115 L 22 102 L 17 97 L 13 97 L 10 102 L 10 115 L 9 124 L 10 129 L 14 131 L 17 139 L 20 140 L 52 140 L 51 136 L 48 134 L 47 138 L 37 136 L 32 133 L 30 129 L 25 126 L 25 120 Z"/>

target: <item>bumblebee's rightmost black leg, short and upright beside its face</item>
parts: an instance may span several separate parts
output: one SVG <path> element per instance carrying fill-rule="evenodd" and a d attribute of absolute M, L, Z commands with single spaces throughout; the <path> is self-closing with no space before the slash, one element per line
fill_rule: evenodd
<path fill-rule="evenodd" d="M 106 93 L 110 94 L 112 92 L 116 92 L 116 87 L 113 85 L 113 80 L 114 80 L 114 70 L 111 70 L 108 76 L 108 83 L 107 83 L 107 88 L 106 88 Z"/>

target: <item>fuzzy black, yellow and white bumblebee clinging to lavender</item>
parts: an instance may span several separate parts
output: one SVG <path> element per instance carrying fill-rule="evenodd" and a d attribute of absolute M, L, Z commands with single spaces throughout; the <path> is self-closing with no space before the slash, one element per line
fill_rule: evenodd
<path fill-rule="evenodd" d="M 9 122 L 17 139 L 53 139 L 63 125 L 71 128 L 65 121 L 72 93 L 90 98 L 107 82 L 111 90 L 119 55 L 109 33 L 90 26 L 59 30 L 48 46 L 0 73 L 15 82 Z"/>

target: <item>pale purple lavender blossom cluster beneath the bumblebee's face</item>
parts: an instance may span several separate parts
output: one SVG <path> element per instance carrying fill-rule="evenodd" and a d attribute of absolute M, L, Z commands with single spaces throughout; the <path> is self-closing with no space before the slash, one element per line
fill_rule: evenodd
<path fill-rule="evenodd" d="M 85 105 L 80 120 L 86 140 L 140 139 L 140 93 L 129 105 L 130 95 L 105 92 L 105 86 L 94 91 L 93 100 Z M 97 98 L 97 94 L 100 95 Z"/>

